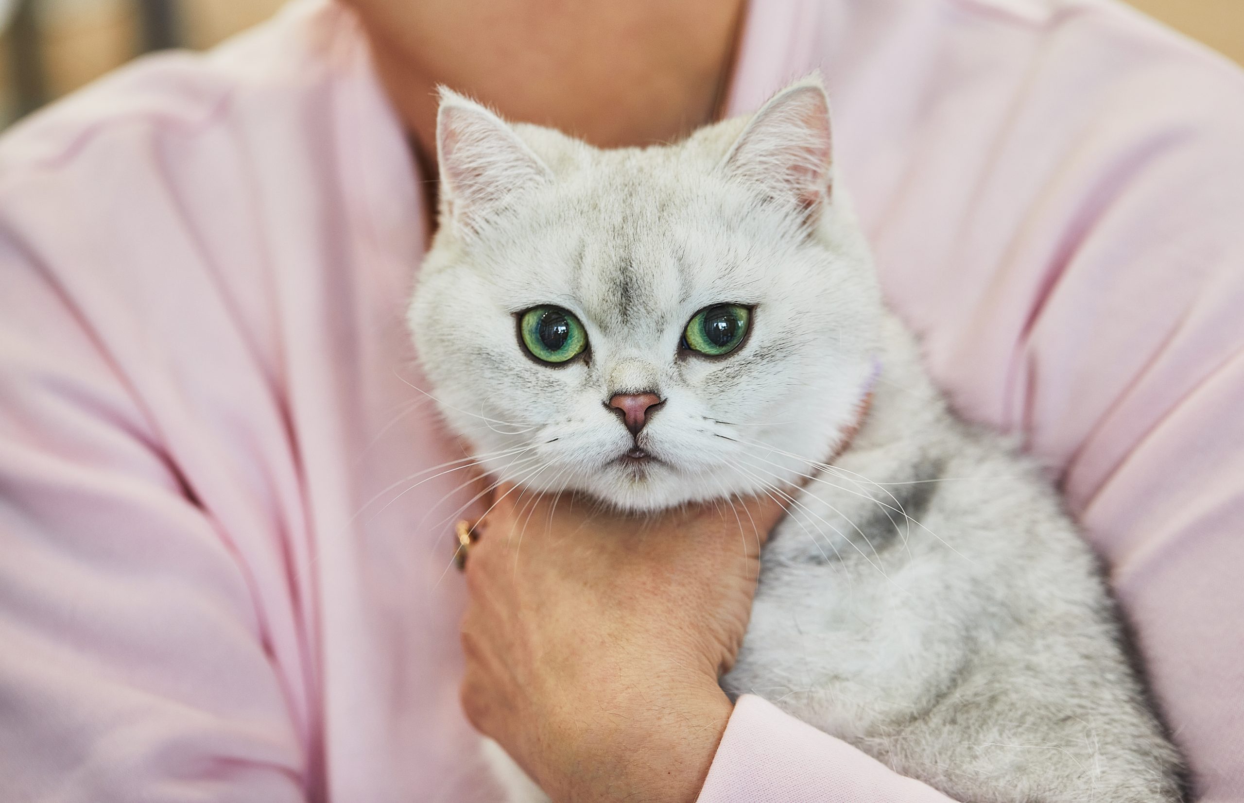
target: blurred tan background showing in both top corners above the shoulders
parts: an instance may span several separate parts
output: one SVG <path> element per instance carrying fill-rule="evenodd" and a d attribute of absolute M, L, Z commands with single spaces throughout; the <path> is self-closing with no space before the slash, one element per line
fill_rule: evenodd
<path fill-rule="evenodd" d="M 210 47 L 282 2 L 0 0 L 0 128 L 139 53 Z M 1131 2 L 1244 63 L 1244 0 Z"/>

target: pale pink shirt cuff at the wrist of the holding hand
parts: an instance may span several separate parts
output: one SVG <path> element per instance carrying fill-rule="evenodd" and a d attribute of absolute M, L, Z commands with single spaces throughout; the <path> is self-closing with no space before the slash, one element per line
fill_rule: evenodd
<path fill-rule="evenodd" d="M 698 803 L 950 803 L 754 695 L 725 726 Z"/>

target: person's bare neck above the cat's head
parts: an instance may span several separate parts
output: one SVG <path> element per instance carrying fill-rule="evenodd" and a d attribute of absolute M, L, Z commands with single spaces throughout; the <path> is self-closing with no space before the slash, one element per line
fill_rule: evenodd
<path fill-rule="evenodd" d="M 521 2 L 485 5 L 495 6 L 493 16 L 439 14 L 399 27 L 358 4 L 376 70 L 425 175 L 435 174 L 440 83 L 513 121 L 600 147 L 685 135 L 722 111 L 745 1 L 565 4 L 557 15 L 522 11 Z M 417 36 L 413 27 L 435 30 Z"/>

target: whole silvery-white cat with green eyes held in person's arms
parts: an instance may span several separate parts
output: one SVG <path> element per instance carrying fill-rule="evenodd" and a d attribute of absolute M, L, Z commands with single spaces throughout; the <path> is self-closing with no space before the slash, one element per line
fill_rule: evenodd
<path fill-rule="evenodd" d="M 444 91 L 408 314 L 442 415 L 493 476 L 622 511 L 802 481 L 729 695 L 962 802 L 1182 799 L 1093 556 L 924 373 L 831 143 L 816 76 L 613 150 Z"/>

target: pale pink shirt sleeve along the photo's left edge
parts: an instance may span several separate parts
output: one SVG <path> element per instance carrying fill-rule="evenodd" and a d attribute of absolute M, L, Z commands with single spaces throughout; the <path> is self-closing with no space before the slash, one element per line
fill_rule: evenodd
<path fill-rule="evenodd" d="M 245 571 L 157 443 L 0 234 L 0 799 L 305 799 Z"/>

